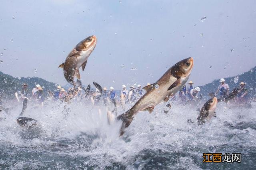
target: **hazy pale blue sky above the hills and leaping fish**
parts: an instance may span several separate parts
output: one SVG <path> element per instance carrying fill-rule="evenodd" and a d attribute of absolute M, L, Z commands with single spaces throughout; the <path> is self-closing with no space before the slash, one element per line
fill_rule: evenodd
<path fill-rule="evenodd" d="M 0 71 L 65 85 L 58 66 L 96 35 L 80 70 L 83 84 L 144 86 L 193 57 L 189 80 L 200 86 L 256 66 L 255 6 L 255 0 L 2 0 Z"/>

